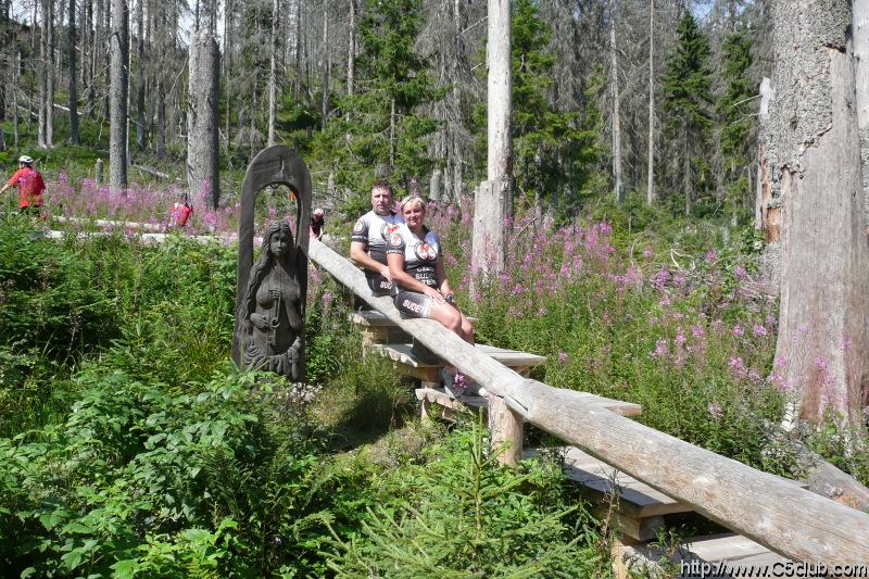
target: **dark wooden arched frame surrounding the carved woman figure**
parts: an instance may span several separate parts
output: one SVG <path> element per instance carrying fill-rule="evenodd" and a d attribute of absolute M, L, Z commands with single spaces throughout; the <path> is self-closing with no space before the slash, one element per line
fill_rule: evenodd
<path fill-rule="evenodd" d="M 263 149 L 253 159 L 244 173 L 241 186 L 241 215 L 238 223 L 238 281 L 236 284 L 236 312 L 248 287 L 253 266 L 253 213 L 256 196 L 269 185 L 286 185 L 295 196 L 295 279 L 299 282 L 302 320 L 305 318 L 307 295 L 307 241 L 311 223 L 311 173 L 299 153 L 288 147 L 276 144 Z M 232 331 L 232 360 L 241 366 L 241 349 L 238 340 L 240 320 L 236 314 Z M 304 360 L 304 333 L 302 336 L 302 360 Z M 302 376 L 304 380 L 304 364 Z"/>

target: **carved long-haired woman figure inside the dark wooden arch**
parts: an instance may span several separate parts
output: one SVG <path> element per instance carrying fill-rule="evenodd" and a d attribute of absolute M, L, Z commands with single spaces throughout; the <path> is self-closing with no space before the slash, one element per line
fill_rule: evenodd
<path fill-rule="evenodd" d="M 243 367 L 270 370 L 298 380 L 302 315 L 295 279 L 295 247 L 290 225 L 277 221 L 263 236 L 239 305 Z"/>

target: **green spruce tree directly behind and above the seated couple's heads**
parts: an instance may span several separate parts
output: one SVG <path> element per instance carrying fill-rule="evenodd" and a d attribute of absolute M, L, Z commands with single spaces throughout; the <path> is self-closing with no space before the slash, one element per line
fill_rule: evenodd
<path fill-rule="evenodd" d="M 428 138 L 437 123 L 420 105 L 444 95 L 414 48 L 423 25 L 420 1 L 368 0 L 365 14 L 356 91 L 338 99 L 350 114 L 336 115 L 313 142 L 314 155 L 333 167 L 336 186 L 356 191 L 361 205 L 375 177 L 401 185 L 431 172 Z"/>

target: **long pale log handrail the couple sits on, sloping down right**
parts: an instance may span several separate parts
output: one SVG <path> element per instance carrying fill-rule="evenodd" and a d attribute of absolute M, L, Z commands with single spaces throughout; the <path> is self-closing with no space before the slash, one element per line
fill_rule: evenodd
<path fill-rule="evenodd" d="M 829 572 L 869 562 L 866 513 L 589 405 L 580 392 L 522 378 L 437 322 L 401 317 L 389 298 L 373 295 L 365 276 L 319 241 L 312 239 L 308 252 L 339 282 L 539 428 L 792 561 L 822 564 Z"/>

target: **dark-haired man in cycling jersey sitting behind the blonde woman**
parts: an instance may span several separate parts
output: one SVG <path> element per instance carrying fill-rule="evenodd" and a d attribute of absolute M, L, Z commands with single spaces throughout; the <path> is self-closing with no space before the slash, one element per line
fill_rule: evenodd
<path fill-rule="evenodd" d="M 389 181 L 374 181 L 371 211 L 360 217 L 350 236 L 350 259 L 365 268 L 365 278 L 375 295 L 387 295 L 392 288 L 387 266 L 387 239 L 404 223 L 392 206 Z"/>

